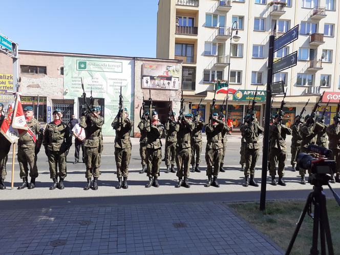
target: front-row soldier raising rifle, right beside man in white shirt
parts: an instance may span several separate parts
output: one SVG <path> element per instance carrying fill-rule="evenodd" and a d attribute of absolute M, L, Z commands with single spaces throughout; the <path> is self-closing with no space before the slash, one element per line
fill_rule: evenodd
<path fill-rule="evenodd" d="M 98 189 L 99 166 L 100 166 L 100 153 L 102 150 L 101 139 L 101 126 L 104 123 L 103 117 L 98 116 L 98 109 L 92 108 L 92 113 L 88 113 L 85 118 L 82 118 L 80 125 L 84 127 L 86 140 L 85 146 L 85 162 L 87 184 L 84 190 Z M 91 179 L 93 176 L 93 182 Z"/>

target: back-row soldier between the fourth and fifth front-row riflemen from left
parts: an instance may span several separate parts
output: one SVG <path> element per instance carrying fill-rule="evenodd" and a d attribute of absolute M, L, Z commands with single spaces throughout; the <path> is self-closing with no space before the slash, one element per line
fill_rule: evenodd
<path fill-rule="evenodd" d="M 193 121 L 193 124 L 194 124 L 194 130 L 191 136 L 191 146 L 192 146 L 191 164 L 193 166 L 192 172 L 200 173 L 201 170 L 199 168 L 199 165 L 201 163 L 201 151 L 202 151 L 202 143 L 203 143 L 202 142 L 202 128 L 204 126 L 204 123 L 201 119 L 199 119 L 199 120 Z"/>

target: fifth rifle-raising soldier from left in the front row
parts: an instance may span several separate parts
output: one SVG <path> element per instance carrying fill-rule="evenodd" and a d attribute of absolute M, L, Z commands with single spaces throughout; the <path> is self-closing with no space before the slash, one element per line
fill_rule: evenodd
<path fill-rule="evenodd" d="M 209 121 L 209 123 L 205 125 L 205 133 L 207 137 L 205 161 L 207 163 L 206 175 L 208 176 L 208 182 L 204 186 L 209 187 L 211 185 L 214 187 L 220 187 L 220 184 L 217 182 L 217 178 L 223 154 L 222 130 L 224 122 L 218 119 L 217 113 L 213 113 L 212 122 L 213 124 Z M 213 181 L 211 181 L 211 176 L 214 176 Z"/>

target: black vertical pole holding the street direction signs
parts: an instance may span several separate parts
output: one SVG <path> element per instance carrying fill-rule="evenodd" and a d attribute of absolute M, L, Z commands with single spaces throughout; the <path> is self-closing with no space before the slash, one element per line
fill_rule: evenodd
<path fill-rule="evenodd" d="M 262 178 L 261 178 L 261 197 L 260 210 L 266 208 L 266 185 L 267 185 L 267 169 L 268 169 L 268 148 L 269 148 L 269 124 L 270 124 L 270 103 L 271 89 L 270 84 L 273 79 L 273 60 L 274 60 L 274 35 L 269 36 L 269 54 L 268 54 L 268 74 L 267 74 L 267 95 L 264 115 L 264 137 L 263 137 L 263 156 L 262 156 Z"/>

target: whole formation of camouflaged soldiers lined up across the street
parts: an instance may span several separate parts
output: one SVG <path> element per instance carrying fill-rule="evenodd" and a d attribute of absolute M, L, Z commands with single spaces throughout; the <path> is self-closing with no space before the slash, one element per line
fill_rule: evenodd
<path fill-rule="evenodd" d="M 33 108 L 28 106 L 24 108 L 24 115 L 28 126 L 28 132 L 21 136 L 17 142 L 17 160 L 20 167 L 20 178 L 22 184 L 18 189 L 35 187 L 35 180 L 38 178 L 37 156 L 41 145 L 45 148 L 49 162 L 50 178 L 52 185 L 50 189 L 63 189 L 63 181 L 67 178 L 66 157 L 72 145 L 72 134 L 75 136 L 75 162 L 79 161 L 79 150 L 82 147 L 84 152 L 83 162 L 86 164 L 85 178 L 87 183 L 84 190 L 98 189 L 98 178 L 100 176 L 99 167 L 101 164 L 101 152 L 103 151 L 102 125 L 103 117 L 100 116 L 101 108 L 93 106 L 93 98 L 90 97 L 90 104 L 86 101 L 86 94 L 83 93 L 86 110 L 82 112 L 79 123 L 74 121 L 72 130 L 70 126 L 62 121 L 62 112 L 59 109 L 53 111 L 53 121 L 46 125 L 45 130 L 40 127 L 39 122 L 33 117 Z M 256 96 L 254 96 L 255 98 Z M 322 96 L 315 103 L 312 112 L 304 116 L 308 102 L 302 109 L 301 113 L 295 117 L 295 122 L 290 128 L 282 124 L 285 105 L 283 98 L 281 107 L 277 113 L 271 116 L 269 128 L 269 157 L 268 171 L 271 176 L 272 185 L 285 186 L 284 169 L 287 159 L 287 135 L 291 138 L 291 166 L 292 171 L 299 171 L 301 176 L 300 183 L 306 184 L 306 169 L 302 169 L 297 164 L 299 153 L 309 153 L 308 146 L 315 144 L 326 147 L 327 141 L 329 149 L 332 151 L 330 159 L 336 161 L 336 175 L 332 176 L 330 182 L 340 182 L 340 102 L 337 105 L 336 114 L 333 117 L 332 124 L 327 126 L 324 123 L 324 115 L 328 103 L 323 113 L 317 114 L 320 107 Z M 162 162 L 162 135 L 165 132 L 165 173 L 176 173 L 178 183 L 176 188 L 189 188 L 188 177 L 191 172 L 201 172 L 201 151 L 202 151 L 202 129 L 206 133 L 205 161 L 207 182 L 205 187 L 219 187 L 218 176 L 220 172 L 225 172 L 223 162 L 227 148 L 227 134 L 230 132 L 230 126 L 227 124 L 223 111 L 227 109 L 226 97 L 222 110 L 219 113 L 211 111 L 208 123 L 204 123 L 200 116 L 200 103 L 196 113 L 184 114 L 184 99 L 181 98 L 181 107 L 178 117 L 172 109 L 169 102 L 169 113 L 165 125 L 160 123 L 158 113 L 153 109 L 153 101 L 150 96 L 148 105 L 143 102 L 140 109 L 140 119 L 138 129 L 140 130 L 140 157 L 142 169 L 140 174 L 146 173 L 148 181 L 145 183 L 146 188 L 151 186 L 159 187 L 158 177 L 160 176 L 160 165 Z M 213 99 L 212 109 L 215 105 L 215 96 Z M 240 170 L 244 172 L 243 186 L 259 186 L 254 179 L 255 166 L 260 155 L 259 140 L 264 132 L 260 126 L 255 109 L 256 101 L 253 99 L 248 106 L 244 122 L 241 124 L 241 148 L 240 148 Z M 145 109 L 147 108 L 147 109 Z M 3 104 L 0 103 L 0 109 Z M 0 111 L 2 113 L 2 111 Z M 5 119 L 0 115 L 0 125 Z M 73 120 L 70 121 L 72 123 Z M 118 184 L 117 189 L 126 189 L 129 177 L 129 163 L 131 159 L 132 144 L 130 134 L 133 128 L 133 121 L 129 119 L 128 109 L 123 107 L 123 97 L 120 92 L 119 110 L 117 116 L 112 122 L 112 128 L 116 131 L 114 141 L 115 161 Z M 6 179 L 6 163 L 11 143 L 0 134 L 0 170 L 1 182 L 0 189 L 5 189 L 4 180 Z M 176 168 L 175 168 L 176 166 Z M 308 172 L 308 176 L 310 177 Z M 276 179 L 278 175 L 278 181 Z M 30 176 L 30 182 L 28 177 Z"/>

